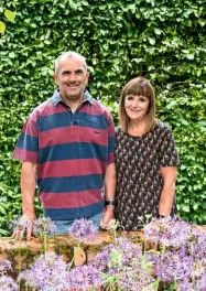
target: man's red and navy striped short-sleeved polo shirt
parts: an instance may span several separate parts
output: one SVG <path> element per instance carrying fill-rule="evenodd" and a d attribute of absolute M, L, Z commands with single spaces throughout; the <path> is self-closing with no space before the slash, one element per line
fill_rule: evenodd
<path fill-rule="evenodd" d="M 37 163 L 46 217 L 76 219 L 102 212 L 104 176 L 107 164 L 113 163 L 113 150 L 109 110 L 85 91 L 73 114 L 55 90 L 26 120 L 13 158 Z"/>

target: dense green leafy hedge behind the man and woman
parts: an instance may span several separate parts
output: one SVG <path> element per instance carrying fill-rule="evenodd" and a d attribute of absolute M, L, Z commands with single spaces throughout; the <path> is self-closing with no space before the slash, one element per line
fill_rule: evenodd
<path fill-rule="evenodd" d="M 14 22 L 6 9 L 17 11 Z M 116 125 L 122 86 L 139 75 L 151 80 L 158 117 L 172 127 L 181 157 L 180 214 L 206 224 L 205 1 L 2 0 L 0 13 L 7 24 L 0 36 L 1 234 L 21 213 L 14 144 L 31 110 L 51 97 L 53 62 L 68 50 L 87 58 L 89 90 L 109 106 Z"/>

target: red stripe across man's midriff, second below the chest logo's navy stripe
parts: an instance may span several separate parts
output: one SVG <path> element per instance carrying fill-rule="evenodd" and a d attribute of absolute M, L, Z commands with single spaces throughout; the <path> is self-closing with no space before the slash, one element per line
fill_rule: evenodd
<path fill-rule="evenodd" d="M 96 159 L 45 162 L 39 165 L 39 179 L 105 174 L 107 163 Z"/>

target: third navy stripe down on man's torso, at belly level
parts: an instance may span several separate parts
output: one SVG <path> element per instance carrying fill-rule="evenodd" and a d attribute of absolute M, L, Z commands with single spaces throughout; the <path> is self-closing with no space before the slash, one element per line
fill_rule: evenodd
<path fill-rule="evenodd" d="M 37 180 L 39 192 L 79 192 L 102 187 L 102 175 L 44 177 Z M 52 194 L 51 194 L 52 195 Z"/>

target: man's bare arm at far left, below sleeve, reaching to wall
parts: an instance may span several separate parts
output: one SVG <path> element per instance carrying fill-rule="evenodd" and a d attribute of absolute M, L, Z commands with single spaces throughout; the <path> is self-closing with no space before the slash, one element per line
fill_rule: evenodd
<path fill-rule="evenodd" d="M 21 170 L 21 192 L 22 192 L 22 212 L 23 217 L 29 219 L 26 230 L 26 239 L 30 240 L 33 229 L 33 222 L 35 220 L 35 211 L 34 211 L 34 194 L 36 185 L 36 170 L 37 164 L 23 162 Z M 15 230 L 13 237 L 15 239 L 22 239 L 24 231 Z"/>

